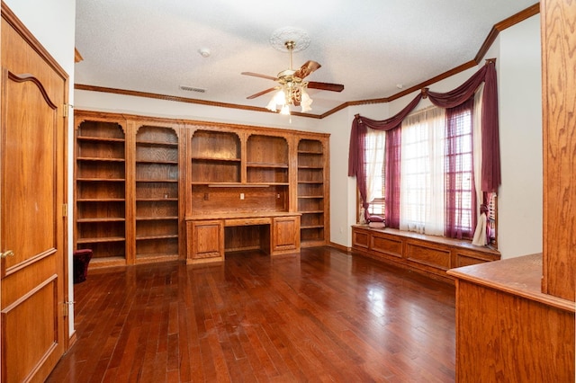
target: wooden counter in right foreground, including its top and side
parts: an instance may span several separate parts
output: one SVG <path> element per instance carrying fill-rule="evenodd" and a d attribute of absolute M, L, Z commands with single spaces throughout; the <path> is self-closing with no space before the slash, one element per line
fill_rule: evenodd
<path fill-rule="evenodd" d="M 541 292 L 542 254 L 448 271 L 459 382 L 574 379 L 572 301 Z"/>

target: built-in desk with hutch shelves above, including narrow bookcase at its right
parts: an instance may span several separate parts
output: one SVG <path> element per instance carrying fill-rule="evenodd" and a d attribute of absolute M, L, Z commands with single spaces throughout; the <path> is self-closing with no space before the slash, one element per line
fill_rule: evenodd
<path fill-rule="evenodd" d="M 301 241 L 326 244 L 327 136 L 189 128 L 187 264 L 221 263 L 233 251 L 297 253 Z"/>

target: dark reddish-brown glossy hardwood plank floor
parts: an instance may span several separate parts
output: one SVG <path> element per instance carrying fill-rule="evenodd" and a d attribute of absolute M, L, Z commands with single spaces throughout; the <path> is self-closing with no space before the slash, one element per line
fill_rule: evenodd
<path fill-rule="evenodd" d="M 451 382 L 455 288 L 334 248 L 91 271 L 49 382 Z"/>

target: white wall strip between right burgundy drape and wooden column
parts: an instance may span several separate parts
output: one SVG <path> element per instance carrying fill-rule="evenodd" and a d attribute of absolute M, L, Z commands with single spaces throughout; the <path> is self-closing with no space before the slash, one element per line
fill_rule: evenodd
<path fill-rule="evenodd" d="M 543 251 L 540 15 L 500 33 L 499 249 L 504 258 Z"/>

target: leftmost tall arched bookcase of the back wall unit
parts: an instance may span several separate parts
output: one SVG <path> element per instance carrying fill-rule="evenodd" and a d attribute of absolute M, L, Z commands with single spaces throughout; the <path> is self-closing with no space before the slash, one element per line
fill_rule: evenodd
<path fill-rule="evenodd" d="M 126 259 L 125 129 L 84 120 L 76 130 L 76 248 L 92 249 L 95 264 Z"/>

